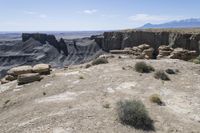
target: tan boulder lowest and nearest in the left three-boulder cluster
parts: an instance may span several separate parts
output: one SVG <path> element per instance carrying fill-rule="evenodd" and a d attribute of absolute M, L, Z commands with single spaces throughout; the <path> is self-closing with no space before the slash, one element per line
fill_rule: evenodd
<path fill-rule="evenodd" d="M 39 73 L 28 73 L 28 74 L 21 74 L 17 78 L 17 83 L 19 85 L 27 84 L 35 81 L 40 81 L 42 77 Z"/>

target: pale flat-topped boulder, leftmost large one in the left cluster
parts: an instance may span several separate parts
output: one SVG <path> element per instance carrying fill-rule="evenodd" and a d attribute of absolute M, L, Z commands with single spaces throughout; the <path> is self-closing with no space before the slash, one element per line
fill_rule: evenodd
<path fill-rule="evenodd" d="M 31 73 L 32 66 L 19 66 L 10 69 L 7 73 L 12 76 L 18 76 L 21 74 Z"/>

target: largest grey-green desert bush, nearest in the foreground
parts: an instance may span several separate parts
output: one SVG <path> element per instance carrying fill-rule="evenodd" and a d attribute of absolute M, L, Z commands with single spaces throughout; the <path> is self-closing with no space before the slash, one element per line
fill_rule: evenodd
<path fill-rule="evenodd" d="M 122 124 L 136 129 L 152 130 L 153 121 L 141 101 L 125 100 L 117 103 L 118 117 Z"/>

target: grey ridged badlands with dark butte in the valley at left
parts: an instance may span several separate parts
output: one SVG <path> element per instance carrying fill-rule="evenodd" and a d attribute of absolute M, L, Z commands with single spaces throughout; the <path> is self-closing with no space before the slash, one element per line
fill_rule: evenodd
<path fill-rule="evenodd" d="M 3 77 L 15 66 L 48 63 L 64 67 L 90 61 L 103 52 L 89 37 L 58 40 L 54 35 L 22 34 L 21 40 L 0 41 L 0 53 L 0 77 Z"/>

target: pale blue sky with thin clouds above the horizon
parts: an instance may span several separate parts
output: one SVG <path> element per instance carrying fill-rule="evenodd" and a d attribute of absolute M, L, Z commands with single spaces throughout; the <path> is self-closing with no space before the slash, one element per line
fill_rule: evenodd
<path fill-rule="evenodd" d="M 200 0 L 0 0 L 0 31 L 91 31 L 200 18 Z"/>

